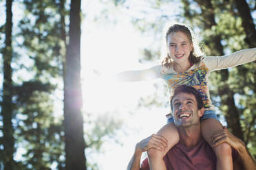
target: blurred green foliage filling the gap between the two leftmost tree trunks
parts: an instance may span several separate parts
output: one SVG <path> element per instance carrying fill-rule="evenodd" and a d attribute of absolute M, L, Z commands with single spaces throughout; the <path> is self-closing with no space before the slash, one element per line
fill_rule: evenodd
<path fill-rule="evenodd" d="M 63 169 L 63 127 L 54 117 L 52 97 L 56 90 L 52 82 L 62 75 L 63 62 L 56 2 L 22 1 L 24 16 L 15 27 L 12 121 L 15 147 L 25 149 L 22 161 L 15 163 L 17 169 L 50 169 L 53 163 Z"/>

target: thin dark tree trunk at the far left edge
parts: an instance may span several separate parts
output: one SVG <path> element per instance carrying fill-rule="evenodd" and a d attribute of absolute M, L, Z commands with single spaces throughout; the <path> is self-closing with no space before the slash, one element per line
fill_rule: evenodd
<path fill-rule="evenodd" d="M 3 165 L 4 169 L 14 169 L 14 130 L 12 127 L 12 0 L 6 0 L 6 47 L 3 49 Z"/>

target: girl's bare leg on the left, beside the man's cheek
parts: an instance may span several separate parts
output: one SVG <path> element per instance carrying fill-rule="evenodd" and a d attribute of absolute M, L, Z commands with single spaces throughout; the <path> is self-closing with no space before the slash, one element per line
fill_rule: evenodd
<path fill-rule="evenodd" d="M 151 148 L 147 151 L 147 155 L 149 157 L 149 167 L 151 170 L 165 170 L 167 168 L 163 158 L 169 149 L 171 149 L 171 147 L 180 141 L 180 136 L 174 123 L 168 123 L 167 125 L 164 125 L 164 127 L 162 127 L 157 134 L 164 136 L 164 138 L 167 139 L 167 148 L 162 151 Z"/>

